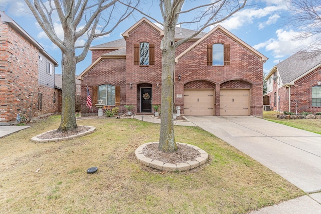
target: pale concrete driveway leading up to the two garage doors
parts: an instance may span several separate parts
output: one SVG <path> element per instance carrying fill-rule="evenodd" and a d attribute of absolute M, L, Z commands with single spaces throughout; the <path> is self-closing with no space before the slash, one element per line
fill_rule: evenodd
<path fill-rule="evenodd" d="M 251 116 L 186 118 L 306 193 L 321 190 L 321 135 Z"/>

